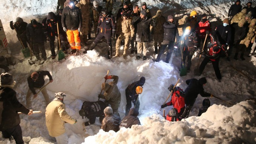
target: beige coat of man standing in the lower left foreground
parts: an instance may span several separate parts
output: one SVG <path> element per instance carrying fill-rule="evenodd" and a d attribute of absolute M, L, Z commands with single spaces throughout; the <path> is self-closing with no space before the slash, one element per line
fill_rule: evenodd
<path fill-rule="evenodd" d="M 45 119 L 47 130 L 52 137 L 65 133 L 65 122 L 74 124 L 76 121 L 68 115 L 65 110 L 65 104 L 57 98 L 46 107 Z"/>

